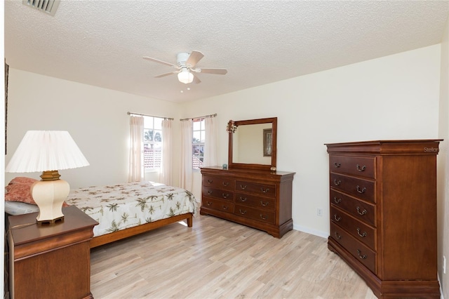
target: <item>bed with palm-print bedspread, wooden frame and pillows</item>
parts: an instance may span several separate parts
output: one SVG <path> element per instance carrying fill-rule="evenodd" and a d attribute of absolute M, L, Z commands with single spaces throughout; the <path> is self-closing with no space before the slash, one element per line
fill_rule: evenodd
<path fill-rule="evenodd" d="M 31 194 L 27 194 L 29 184 L 34 181 L 15 178 L 6 186 L 7 214 L 39 211 L 29 201 Z M 91 248 L 181 220 L 186 220 L 187 226 L 192 227 L 193 217 L 198 210 L 198 202 L 192 192 L 156 182 L 130 182 L 74 189 L 65 202 L 76 206 L 99 223 L 93 228 Z"/>

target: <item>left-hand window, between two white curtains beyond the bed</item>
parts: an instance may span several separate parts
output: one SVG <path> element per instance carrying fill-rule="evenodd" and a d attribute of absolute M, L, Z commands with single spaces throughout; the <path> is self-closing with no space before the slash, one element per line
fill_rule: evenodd
<path fill-rule="evenodd" d="M 144 117 L 143 157 L 145 171 L 156 171 L 162 162 L 162 118 Z"/>

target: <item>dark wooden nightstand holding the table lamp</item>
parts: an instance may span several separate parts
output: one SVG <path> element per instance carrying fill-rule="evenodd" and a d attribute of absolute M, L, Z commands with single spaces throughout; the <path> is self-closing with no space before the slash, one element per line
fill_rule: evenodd
<path fill-rule="evenodd" d="M 11 298 L 93 298 L 89 242 L 98 222 L 76 206 L 62 213 L 53 225 L 38 225 L 37 213 L 9 216 Z"/>

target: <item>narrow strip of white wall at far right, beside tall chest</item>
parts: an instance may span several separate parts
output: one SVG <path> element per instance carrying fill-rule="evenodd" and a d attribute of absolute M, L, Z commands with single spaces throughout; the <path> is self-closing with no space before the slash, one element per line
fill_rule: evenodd
<path fill-rule="evenodd" d="M 438 277 L 443 298 L 449 298 L 449 18 L 441 43 L 440 82 L 438 136 L 444 141 L 438 154 Z"/>

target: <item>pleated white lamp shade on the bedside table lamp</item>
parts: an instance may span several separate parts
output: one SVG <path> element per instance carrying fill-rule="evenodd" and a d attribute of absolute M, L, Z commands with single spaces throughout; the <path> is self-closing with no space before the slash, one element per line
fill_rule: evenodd
<path fill-rule="evenodd" d="M 69 132 L 27 131 L 5 171 L 32 173 L 88 165 Z"/>

